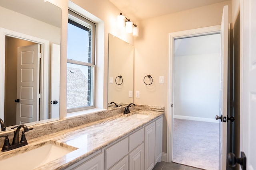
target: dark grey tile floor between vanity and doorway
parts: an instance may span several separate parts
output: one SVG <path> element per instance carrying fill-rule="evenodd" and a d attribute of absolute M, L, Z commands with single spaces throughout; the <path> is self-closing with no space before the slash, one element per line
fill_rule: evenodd
<path fill-rule="evenodd" d="M 176 164 L 174 162 L 158 162 L 153 170 L 201 170 L 190 166 Z"/>

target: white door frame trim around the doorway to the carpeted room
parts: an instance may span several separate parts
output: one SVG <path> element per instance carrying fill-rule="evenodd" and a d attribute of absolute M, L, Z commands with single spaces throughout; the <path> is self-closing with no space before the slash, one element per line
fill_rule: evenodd
<path fill-rule="evenodd" d="M 168 33 L 168 99 L 167 99 L 167 159 L 166 162 L 172 162 L 173 149 L 173 64 L 174 64 L 174 39 L 182 37 L 194 37 L 197 35 L 206 35 L 210 33 L 220 33 L 220 25 L 190 29 Z"/>

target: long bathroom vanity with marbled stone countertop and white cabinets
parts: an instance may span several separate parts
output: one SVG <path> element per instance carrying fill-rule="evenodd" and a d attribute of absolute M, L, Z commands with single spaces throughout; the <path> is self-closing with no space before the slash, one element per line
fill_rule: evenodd
<path fill-rule="evenodd" d="M 92 121 L 72 128 L 66 127 L 74 124 L 67 123 L 67 121 L 74 121 L 72 118 L 59 121 L 63 130 L 29 139 L 32 137 L 32 133 L 36 135 L 37 129 L 40 130 L 35 126 L 34 130 L 29 132 L 30 136 L 27 137 L 28 145 L 0 153 L 1 167 L 5 160 L 13 159 L 14 155 L 27 154 L 30 151 L 31 154 L 26 158 L 28 156 L 31 156 L 31 159 L 37 158 L 38 153 L 33 153 L 33 150 L 51 145 L 61 148 L 60 150 L 56 148 L 55 152 L 64 152 L 64 155 L 54 157 L 54 152 L 51 152 L 49 155 L 54 158 L 47 157 L 48 160 L 38 162 L 31 168 L 28 168 L 30 162 L 36 162 L 36 159 L 33 161 L 28 158 L 28 163 L 24 163 L 24 169 L 117 170 L 122 168 L 125 170 L 151 170 L 157 162 L 161 161 L 162 157 L 164 108 L 152 106 L 136 106 L 135 108 L 136 110 L 126 115 L 120 113 L 124 108 L 117 108 L 76 117 L 73 119 L 79 119 L 81 122 L 88 122 L 90 119 Z M 100 114 L 105 117 L 95 119 Z M 43 124 L 38 126 L 43 126 Z M 45 131 L 51 131 L 53 128 L 52 125 L 44 126 Z M 61 127 L 61 125 L 58 126 Z M 62 151 L 63 148 L 69 151 Z M 47 151 L 42 151 L 42 154 L 44 152 Z M 12 164 L 9 164 L 8 168 L 10 166 Z M 21 164 L 18 167 L 22 169 Z"/>

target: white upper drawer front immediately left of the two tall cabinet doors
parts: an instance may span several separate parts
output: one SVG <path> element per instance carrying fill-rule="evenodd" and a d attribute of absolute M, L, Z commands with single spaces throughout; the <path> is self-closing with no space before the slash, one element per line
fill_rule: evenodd
<path fill-rule="evenodd" d="M 144 141 L 144 130 L 140 129 L 129 136 L 129 151 L 138 147 Z"/>

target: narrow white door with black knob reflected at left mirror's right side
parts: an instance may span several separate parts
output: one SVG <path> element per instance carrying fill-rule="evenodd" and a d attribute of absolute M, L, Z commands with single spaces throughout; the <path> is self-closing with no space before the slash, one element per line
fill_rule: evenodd
<path fill-rule="evenodd" d="M 52 44 L 51 116 L 60 115 L 60 45 Z M 56 102 L 54 102 L 56 101 Z"/>

